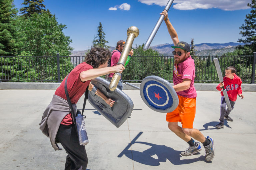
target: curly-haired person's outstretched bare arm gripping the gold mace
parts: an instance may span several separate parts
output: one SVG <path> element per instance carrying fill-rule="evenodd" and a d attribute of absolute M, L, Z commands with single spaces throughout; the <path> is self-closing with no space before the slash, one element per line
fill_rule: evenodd
<path fill-rule="evenodd" d="M 82 71 L 80 73 L 81 81 L 92 80 L 96 77 L 103 76 L 109 73 L 122 73 L 124 70 L 124 66 L 122 64 L 118 64 L 113 67 L 104 67 L 104 68 L 94 68 L 86 71 Z"/>

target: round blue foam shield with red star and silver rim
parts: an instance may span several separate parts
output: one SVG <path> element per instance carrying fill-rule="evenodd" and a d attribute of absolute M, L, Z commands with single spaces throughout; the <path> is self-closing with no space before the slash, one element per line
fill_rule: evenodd
<path fill-rule="evenodd" d="M 140 96 L 149 108 L 157 112 L 172 112 L 179 104 L 177 93 L 172 85 L 158 76 L 148 76 L 142 80 Z"/>

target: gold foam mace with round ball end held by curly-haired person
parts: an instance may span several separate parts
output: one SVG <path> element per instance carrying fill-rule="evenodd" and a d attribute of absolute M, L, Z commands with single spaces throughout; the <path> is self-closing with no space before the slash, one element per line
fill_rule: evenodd
<path fill-rule="evenodd" d="M 125 62 L 128 58 L 129 52 L 131 50 L 133 40 L 136 37 L 138 37 L 139 33 L 140 33 L 139 29 L 135 26 L 131 26 L 131 27 L 128 28 L 128 30 L 127 30 L 127 36 L 128 37 L 126 39 L 122 54 L 121 54 L 117 64 L 123 64 L 123 66 L 124 66 L 124 64 L 125 64 Z M 118 84 L 118 81 L 120 80 L 120 78 L 121 78 L 120 73 L 115 73 L 113 75 L 113 78 L 112 78 L 112 80 L 109 84 L 109 90 L 110 91 L 115 91 L 116 90 L 116 87 L 117 87 L 117 84 Z"/>

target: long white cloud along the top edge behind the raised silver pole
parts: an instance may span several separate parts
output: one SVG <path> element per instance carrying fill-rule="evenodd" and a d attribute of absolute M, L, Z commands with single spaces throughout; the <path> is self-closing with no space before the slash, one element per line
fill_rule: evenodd
<path fill-rule="evenodd" d="M 168 0 L 138 0 L 147 5 L 166 6 Z M 248 9 L 248 3 L 251 0 L 175 0 L 173 8 L 178 10 L 193 10 L 193 9 L 210 9 L 219 8 L 225 11 Z"/>

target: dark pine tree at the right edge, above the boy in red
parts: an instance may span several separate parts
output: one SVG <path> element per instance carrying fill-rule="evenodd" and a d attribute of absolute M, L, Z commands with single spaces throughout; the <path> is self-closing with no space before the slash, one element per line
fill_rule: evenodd
<path fill-rule="evenodd" d="M 251 7 L 252 10 L 250 14 L 245 16 L 245 24 L 239 27 L 239 29 L 244 30 L 241 31 L 240 34 L 242 37 L 245 37 L 245 39 L 238 39 L 237 41 L 247 44 L 244 46 L 239 45 L 237 49 L 242 49 L 244 55 L 253 55 L 253 52 L 256 51 L 256 0 L 252 0 L 252 3 L 248 3 L 247 6 Z"/>

